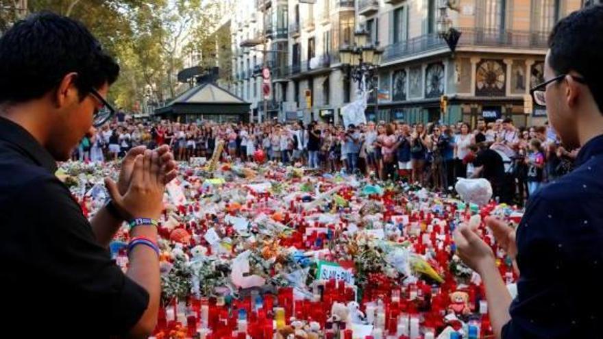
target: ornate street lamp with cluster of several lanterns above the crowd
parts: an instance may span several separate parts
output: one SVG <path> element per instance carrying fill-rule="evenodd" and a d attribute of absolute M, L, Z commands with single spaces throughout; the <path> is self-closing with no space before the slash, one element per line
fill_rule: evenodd
<path fill-rule="evenodd" d="M 358 84 L 360 93 L 367 92 L 378 74 L 383 49 L 379 42 L 374 45 L 368 42 L 369 33 L 366 30 L 354 32 L 354 45 L 339 49 L 341 64 L 349 70 L 349 76 Z M 370 81 L 370 82 L 369 82 Z M 378 84 L 374 84 L 376 91 L 375 113 L 379 110 Z"/>

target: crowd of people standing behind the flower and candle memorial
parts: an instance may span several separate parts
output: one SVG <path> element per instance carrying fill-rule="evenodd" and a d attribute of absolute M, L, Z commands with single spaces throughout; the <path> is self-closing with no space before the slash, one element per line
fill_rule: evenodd
<path fill-rule="evenodd" d="M 345 171 L 402 179 L 450 192 L 457 177 L 485 177 L 501 202 L 523 205 L 543 184 L 571 171 L 578 150 L 567 150 L 547 125 L 515 127 L 510 118 L 438 125 L 404 122 L 358 126 L 312 122 L 197 123 L 114 122 L 88 134 L 74 160 L 121 158 L 138 145 L 169 145 L 176 160 L 212 156 L 223 140 L 227 160 L 267 160 L 325 172 Z"/>

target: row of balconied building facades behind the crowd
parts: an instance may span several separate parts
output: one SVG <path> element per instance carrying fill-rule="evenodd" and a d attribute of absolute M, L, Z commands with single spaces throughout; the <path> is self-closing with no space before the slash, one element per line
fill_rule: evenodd
<path fill-rule="evenodd" d="M 513 118 L 540 124 L 528 109 L 530 87 L 543 81 L 547 38 L 582 0 L 256 0 L 235 21 L 236 92 L 262 113 L 262 55 L 271 70 L 267 118 L 338 123 L 356 84 L 339 49 L 357 29 L 384 50 L 367 118 L 409 123 Z M 441 18 L 461 32 L 454 53 L 438 29 Z M 262 42 L 250 51 L 245 39 Z M 245 44 L 243 44 L 245 45 Z M 260 50 L 267 49 L 267 53 Z M 443 97 L 447 100 L 441 110 Z M 526 114 L 527 112 L 527 114 Z"/>

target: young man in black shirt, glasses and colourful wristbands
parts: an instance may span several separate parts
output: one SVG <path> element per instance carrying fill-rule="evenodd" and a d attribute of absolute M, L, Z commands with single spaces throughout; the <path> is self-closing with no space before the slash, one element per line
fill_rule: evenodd
<path fill-rule="evenodd" d="M 114 114 L 119 66 L 81 23 L 29 16 L 0 38 L 0 271 L 3 336 L 147 338 L 160 297 L 156 223 L 175 176 L 169 149 L 132 149 L 109 201 L 88 221 L 56 161 Z M 108 246 L 132 221 L 123 273 Z M 139 246 L 140 245 L 140 246 Z M 27 314 L 36 314 L 28 316 Z M 29 318 L 29 320 L 28 320 Z M 32 321 L 27 327 L 23 321 Z M 14 331 L 19 331 L 15 334 Z"/>

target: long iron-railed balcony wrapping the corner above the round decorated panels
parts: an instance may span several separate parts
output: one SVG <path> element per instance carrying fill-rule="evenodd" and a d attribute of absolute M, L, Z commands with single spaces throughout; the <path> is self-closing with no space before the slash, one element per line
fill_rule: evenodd
<path fill-rule="evenodd" d="M 457 49 L 462 47 L 497 47 L 503 49 L 546 49 L 548 34 L 529 31 L 460 28 Z M 437 34 L 426 34 L 385 47 L 382 62 L 408 58 L 431 51 L 448 51 L 446 42 Z"/>

